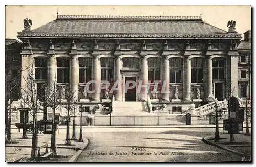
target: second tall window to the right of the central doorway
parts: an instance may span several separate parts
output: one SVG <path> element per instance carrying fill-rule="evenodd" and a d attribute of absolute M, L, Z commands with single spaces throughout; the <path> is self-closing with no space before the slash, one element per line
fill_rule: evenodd
<path fill-rule="evenodd" d="M 181 83 L 182 59 L 170 58 L 170 83 Z"/>

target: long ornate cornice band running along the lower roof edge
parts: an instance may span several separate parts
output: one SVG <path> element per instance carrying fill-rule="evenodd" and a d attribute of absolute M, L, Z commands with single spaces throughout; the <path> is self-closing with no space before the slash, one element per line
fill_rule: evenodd
<path fill-rule="evenodd" d="M 241 39 L 241 34 L 84 34 L 18 32 L 18 38 Z"/>

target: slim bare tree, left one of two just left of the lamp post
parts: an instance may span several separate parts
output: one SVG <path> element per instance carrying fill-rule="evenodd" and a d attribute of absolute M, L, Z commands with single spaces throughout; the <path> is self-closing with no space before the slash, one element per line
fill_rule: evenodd
<path fill-rule="evenodd" d="M 70 89 L 66 91 L 65 99 L 66 99 L 66 102 L 62 103 L 62 106 L 66 109 L 66 112 L 67 112 L 67 129 L 66 129 L 65 145 L 69 146 L 71 145 L 71 141 L 69 137 L 70 112 L 73 113 L 73 111 L 77 108 L 78 99 L 75 95 L 75 92 L 73 92 Z"/>

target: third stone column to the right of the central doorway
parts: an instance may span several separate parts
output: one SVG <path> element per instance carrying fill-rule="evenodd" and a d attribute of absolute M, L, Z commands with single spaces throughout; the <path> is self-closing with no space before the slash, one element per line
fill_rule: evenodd
<path fill-rule="evenodd" d="M 190 99 L 190 89 L 191 89 L 191 58 L 189 56 L 185 57 L 184 61 L 184 99 L 183 101 L 191 101 Z"/>

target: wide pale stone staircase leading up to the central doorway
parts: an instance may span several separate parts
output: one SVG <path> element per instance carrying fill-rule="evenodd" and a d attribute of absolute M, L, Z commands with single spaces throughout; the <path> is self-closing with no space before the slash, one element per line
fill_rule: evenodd
<path fill-rule="evenodd" d="M 115 101 L 112 115 L 143 115 L 148 114 L 147 102 Z"/>

